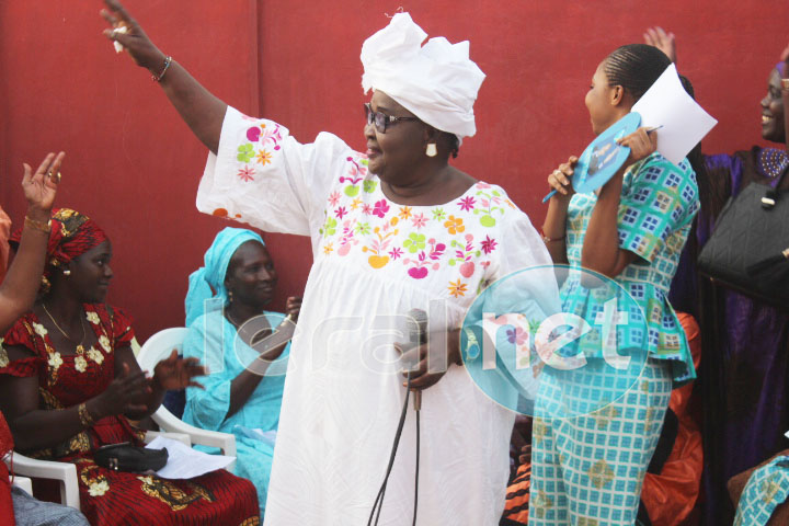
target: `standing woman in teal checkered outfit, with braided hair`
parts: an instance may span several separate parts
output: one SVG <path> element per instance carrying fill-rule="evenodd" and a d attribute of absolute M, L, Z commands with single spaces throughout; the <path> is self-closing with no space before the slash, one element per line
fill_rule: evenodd
<path fill-rule="evenodd" d="M 585 101 L 594 134 L 627 115 L 670 65 L 665 54 L 643 44 L 622 46 L 603 60 Z M 550 199 L 544 241 L 554 263 L 592 271 L 603 282 L 610 278 L 620 306 L 622 300 L 636 306 L 627 311 L 625 330 L 617 332 L 616 348 L 640 363 L 626 389 L 601 397 L 596 407 L 588 402 L 590 393 L 604 390 L 598 386 L 609 379 L 598 356 L 561 380 L 544 381 L 538 403 L 549 407 L 564 399 L 590 410 L 570 418 L 537 413 L 531 526 L 634 524 L 671 391 L 696 377 L 685 333 L 667 300 L 699 208 L 696 176 L 687 159 L 675 165 L 655 151 L 656 133 L 640 128 L 620 144 L 630 147 L 629 159 L 594 194 L 573 194 L 575 157 L 549 175 L 558 193 Z M 565 284 L 565 311 L 588 315 L 590 308 L 602 306 L 594 305 L 597 291 L 583 285 Z M 546 373 L 549 380 L 559 377 Z"/>

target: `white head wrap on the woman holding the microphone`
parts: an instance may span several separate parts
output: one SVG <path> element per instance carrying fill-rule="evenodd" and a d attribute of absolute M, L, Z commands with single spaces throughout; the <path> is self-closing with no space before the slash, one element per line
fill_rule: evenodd
<path fill-rule="evenodd" d="M 420 47 L 426 37 L 408 13 L 396 14 L 362 46 L 362 88 L 385 92 L 436 129 L 471 137 L 484 73 L 469 59 L 468 41 L 449 44 L 439 36 Z"/>

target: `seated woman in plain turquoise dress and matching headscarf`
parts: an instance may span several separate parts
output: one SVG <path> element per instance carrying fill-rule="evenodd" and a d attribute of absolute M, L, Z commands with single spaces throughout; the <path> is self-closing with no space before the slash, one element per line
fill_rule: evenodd
<path fill-rule="evenodd" d="M 186 389 L 183 420 L 236 435 L 236 474 L 258 489 L 265 511 L 285 369 L 301 305 L 288 298 L 287 318 L 264 310 L 277 276 L 263 239 L 226 228 L 190 276 L 184 356 L 204 361 L 205 389 Z M 274 333 L 275 332 L 275 333 Z"/>

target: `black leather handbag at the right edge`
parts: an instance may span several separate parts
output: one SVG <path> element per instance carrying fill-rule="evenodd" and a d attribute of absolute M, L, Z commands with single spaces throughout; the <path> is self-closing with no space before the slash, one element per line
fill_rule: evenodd
<path fill-rule="evenodd" d="M 789 190 L 751 183 L 729 198 L 698 259 L 713 283 L 789 310 Z"/>

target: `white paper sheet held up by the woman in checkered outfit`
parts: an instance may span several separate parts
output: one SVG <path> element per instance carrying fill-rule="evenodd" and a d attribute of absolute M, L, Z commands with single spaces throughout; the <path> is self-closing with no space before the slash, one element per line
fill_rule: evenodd
<path fill-rule="evenodd" d="M 641 114 L 641 126 L 663 126 L 656 130 L 658 151 L 674 164 L 718 124 L 682 87 L 673 64 L 633 105 Z"/>

